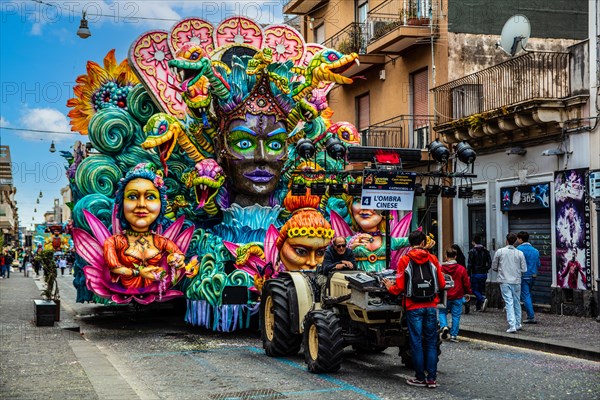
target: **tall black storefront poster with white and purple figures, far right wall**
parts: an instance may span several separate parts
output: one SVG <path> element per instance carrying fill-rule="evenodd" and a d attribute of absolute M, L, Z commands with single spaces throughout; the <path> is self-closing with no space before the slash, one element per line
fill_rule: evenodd
<path fill-rule="evenodd" d="M 554 175 L 556 282 L 566 289 L 591 289 L 590 206 L 586 169 Z"/>

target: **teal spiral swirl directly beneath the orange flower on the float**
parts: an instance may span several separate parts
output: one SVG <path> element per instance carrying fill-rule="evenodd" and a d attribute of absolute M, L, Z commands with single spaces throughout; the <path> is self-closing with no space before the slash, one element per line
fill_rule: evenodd
<path fill-rule="evenodd" d="M 140 124 L 120 108 L 98 111 L 90 120 L 88 130 L 94 148 L 104 154 L 119 154 L 126 146 L 144 141 Z"/>

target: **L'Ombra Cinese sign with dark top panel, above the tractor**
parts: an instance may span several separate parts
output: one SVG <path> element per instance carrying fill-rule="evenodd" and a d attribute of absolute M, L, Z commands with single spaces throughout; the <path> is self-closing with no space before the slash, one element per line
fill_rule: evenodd
<path fill-rule="evenodd" d="M 366 169 L 363 173 L 362 208 L 412 210 L 415 172 Z"/>

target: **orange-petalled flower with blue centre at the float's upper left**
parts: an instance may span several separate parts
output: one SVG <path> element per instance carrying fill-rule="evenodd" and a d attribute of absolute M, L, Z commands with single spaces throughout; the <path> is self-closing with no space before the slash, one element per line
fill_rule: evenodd
<path fill-rule="evenodd" d="M 104 57 L 104 68 L 88 61 L 87 74 L 80 75 L 73 88 L 75 96 L 67 101 L 71 130 L 88 134 L 92 116 L 99 110 L 111 107 L 127 109 L 127 94 L 139 83 L 127 60 L 117 65 L 115 50 Z"/>

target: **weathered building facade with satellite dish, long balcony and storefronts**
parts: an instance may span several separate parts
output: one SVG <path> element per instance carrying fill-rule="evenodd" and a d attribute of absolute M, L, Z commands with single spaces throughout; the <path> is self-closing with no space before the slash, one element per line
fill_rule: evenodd
<path fill-rule="evenodd" d="M 482 235 L 494 252 L 508 232 L 528 231 L 541 254 L 534 303 L 578 315 L 597 312 L 598 256 L 586 189 L 599 158 L 590 119 L 597 107 L 590 96 L 597 85 L 590 79 L 590 53 L 597 51 L 597 34 L 588 30 L 592 3 L 556 1 L 552 11 L 510 1 L 470 3 L 473 10 L 494 10 L 488 17 L 450 2 L 447 83 L 432 90 L 436 133 L 449 145 L 466 140 L 478 152 L 476 195 L 453 202 L 455 241 L 468 247 Z M 503 24 L 526 24 L 523 16 L 531 27 L 527 44 L 514 55 L 496 49 Z M 494 273 L 490 280 L 496 300 Z"/>

